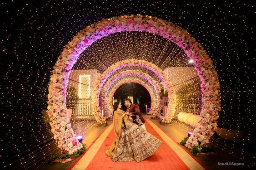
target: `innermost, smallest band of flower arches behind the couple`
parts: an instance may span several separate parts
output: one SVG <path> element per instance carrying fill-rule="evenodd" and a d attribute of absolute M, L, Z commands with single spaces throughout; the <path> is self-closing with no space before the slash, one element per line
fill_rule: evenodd
<path fill-rule="evenodd" d="M 144 86 L 147 91 L 150 93 L 151 101 L 152 101 L 152 108 L 151 113 L 156 112 L 157 110 L 161 109 L 161 102 L 160 102 L 160 95 L 159 92 L 161 89 L 159 86 L 155 85 L 151 82 L 151 80 L 148 77 L 144 77 L 135 73 L 130 74 L 121 74 L 116 79 L 114 79 L 115 82 L 112 82 L 110 86 L 106 87 L 103 92 L 105 93 L 104 97 L 105 102 L 103 103 L 103 108 L 105 112 L 108 114 L 111 114 L 112 112 L 112 97 L 114 96 L 115 91 L 123 84 L 133 82 L 133 83 L 139 83 L 142 86 Z M 147 83 L 145 83 L 147 82 Z M 160 113 L 160 111 L 159 111 Z M 150 114 L 150 113 L 149 113 Z"/>

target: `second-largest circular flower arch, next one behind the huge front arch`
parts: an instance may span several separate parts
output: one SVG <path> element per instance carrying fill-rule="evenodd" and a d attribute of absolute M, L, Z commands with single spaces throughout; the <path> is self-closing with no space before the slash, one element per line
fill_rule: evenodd
<path fill-rule="evenodd" d="M 145 60 L 137 60 L 137 59 L 127 59 L 127 60 L 122 60 L 120 62 L 117 62 L 113 65 L 111 65 L 108 69 L 105 70 L 104 73 L 100 76 L 98 79 L 97 83 L 95 83 L 95 93 L 93 98 L 93 108 L 95 111 L 95 118 L 98 119 L 101 115 L 100 111 L 100 106 L 98 104 L 99 101 L 99 96 L 100 92 L 102 92 L 102 87 L 104 86 L 105 82 L 107 81 L 108 78 L 111 77 L 115 73 L 115 71 L 121 69 L 121 68 L 126 68 L 126 67 L 131 67 L 131 66 L 140 66 L 143 68 L 146 68 L 150 70 L 151 72 L 155 73 L 161 80 L 163 81 L 164 85 L 166 86 L 167 92 L 168 92 L 168 109 L 167 113 L 162 120 L 165 123 L 170 123 L 171 119 L 173 118 L 175 114 L 175 106 L 176 106 L 176 92 L 174 87 L 172 87 L 172 83 L 169 79 L 169 77 L 164 73 L 159 67 L 157 67 L 155 64 L 145 61 Z M 102 117 L 102 119 L 105 119 Z"/>

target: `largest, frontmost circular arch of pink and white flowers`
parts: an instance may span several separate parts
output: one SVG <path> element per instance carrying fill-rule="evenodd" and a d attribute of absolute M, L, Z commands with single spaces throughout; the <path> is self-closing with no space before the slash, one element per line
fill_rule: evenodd
<path fill-rule="evenodd" d="M 205 146 L 216 129 L 218 112 L 221 111 L 220 84 L 213 62 L 201 44 L 180 26 L 147 15 L 125 15 L 103 19 L 80 30 L 65 46 L 53 67 L 48 88 L 48 115 L 51 131 L 60 149 L 72 154 L 82 148 L 70 127 L 65 105 L 66 87 L 71 68 L 80 53 L 90 44 L 104 36 L 122 31 L 146 31 L 162 36 L 176 43 L 184 49 L 189 58 L 194 60 L 201 80 L 202 110 L 201 119 L 186 142 L 186 147 L 191 149 L 193 146 L 198 146 L 200 149 L 201 146 Z"/>

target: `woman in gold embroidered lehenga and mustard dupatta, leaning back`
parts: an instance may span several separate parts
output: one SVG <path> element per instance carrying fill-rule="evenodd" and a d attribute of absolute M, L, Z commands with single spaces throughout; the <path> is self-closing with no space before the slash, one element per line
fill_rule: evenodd
<path fill-rule="evenodd" d="M 115 140 L 105 153 L 114 162 L 132 160 L 140 162 L 155 153 L 162 141 L 132 123 L 121 107 L 120 102 L 114 103 Z"/>

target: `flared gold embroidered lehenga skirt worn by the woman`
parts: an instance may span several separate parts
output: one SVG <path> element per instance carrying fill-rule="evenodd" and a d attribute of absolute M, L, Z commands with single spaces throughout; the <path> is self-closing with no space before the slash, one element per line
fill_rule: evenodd
<path fill-rule="evenodd" d="M 127 127 L 121 131 L 116 154 L 112 156 L 112 160 L 140 162 L 156 152 L 161 144 L 162 141 L 155 136 L 135 123 L 127 121 Z"/>

